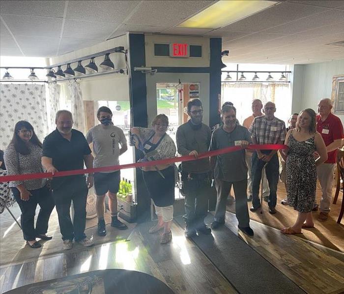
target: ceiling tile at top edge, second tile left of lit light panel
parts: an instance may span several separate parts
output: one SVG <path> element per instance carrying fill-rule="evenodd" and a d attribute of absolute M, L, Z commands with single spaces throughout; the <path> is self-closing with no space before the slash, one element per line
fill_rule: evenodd
<path fill-rule="evenodd" d="M 122 23 L 141 1 L 69 1 L 67 19 Z"/>

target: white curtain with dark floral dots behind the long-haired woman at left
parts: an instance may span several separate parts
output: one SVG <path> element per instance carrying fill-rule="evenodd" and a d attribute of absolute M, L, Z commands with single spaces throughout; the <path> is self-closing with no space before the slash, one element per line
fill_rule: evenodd
<path fill-rule="evenodd" d="M 12 139 L 18 121 L 28 121 L 42 141 L 48 134 L 45 86 L 41 84 L 0 84 L 0 148 Z"/>

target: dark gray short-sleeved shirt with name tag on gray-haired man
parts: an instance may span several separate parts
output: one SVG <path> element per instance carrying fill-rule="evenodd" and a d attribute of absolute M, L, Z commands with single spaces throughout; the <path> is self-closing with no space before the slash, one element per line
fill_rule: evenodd
<path fill-rule="evenodd" d="M 240 141 L 252 143 L 250 133 L 246 127 L 236 124 L 234 130 L 229 133 L 221 126 L 213 132 L 209 150 L 240 145 Z M 217 155 L 214 176 L 228 182 L 247 179 L 245 149 Z"/>

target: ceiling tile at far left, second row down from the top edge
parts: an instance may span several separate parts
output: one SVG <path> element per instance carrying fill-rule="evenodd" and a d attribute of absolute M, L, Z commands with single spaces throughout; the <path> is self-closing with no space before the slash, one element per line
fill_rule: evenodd
<path fill-rule="evenodd" d="M 2 15 L 14 35 L 59 37 L 62 19 L 41 16 Z"/>

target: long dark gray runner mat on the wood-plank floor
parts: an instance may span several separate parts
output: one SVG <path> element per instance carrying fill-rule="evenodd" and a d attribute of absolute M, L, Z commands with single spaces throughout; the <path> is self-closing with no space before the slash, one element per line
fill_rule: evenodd
<path fill-rule="evenodd" d="M 213 216 L 208 214 L 204 221 L 212 220 Z M 175 221 L 185 227 L 181 216 Z M 226 226 L 192 240 L 239 293 L 305 293 Z"/>

